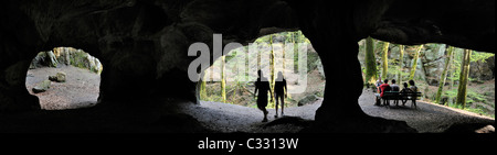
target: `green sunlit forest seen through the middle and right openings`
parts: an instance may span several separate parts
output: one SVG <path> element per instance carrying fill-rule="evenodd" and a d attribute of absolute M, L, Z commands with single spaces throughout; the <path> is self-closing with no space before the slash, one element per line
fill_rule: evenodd
<path fill-rule="evenodd" d="M 261 69 L 258 66 L 267 67 L 264 66 L 267 64 L 269 74 L 265 77 L 269 79 L 272 88 L 277 71 L 293 73 L 285 77 L 290 81 L 300 74 L 298 63 L 293 62 L 299 60 L 298 49 L 305 48 L 307 87 L 299 93 L 288 93 L 285 107 L 302 106 L 324 97 L 326 77 L 322 73 L 321 62 L 309 40 L 300 31 L 265 35 L 254 43 L 258 43 L 257 48 L 271 52 L 269 63 L 261 64 L 258 60 L 257 66 L 253 66 L 253 64 L 251 66 L 246 59 L 243 59 L 245 62 L 242 64 L 245 63 L 248 68 L 256 67 L 257 69 Z M 298 43 L 307 45 L 297 46 Z M 287 44 L 294 45 L 294 48 L 286 48 Z M 402 82 L 413 79 L 423 93 L 421 100 L 425 102 L 495 118 L 494 54 L 445 44 L 400 45 L 371 37 L 362 40 L 358 44 L 358 59 L 362 67 L 364 89 L 372 89 L 378 79 L 395 79 L 400 86 Z M 221 69 L 213 69 L 213 67 L 207 69 L 207 73 L 213 71 L 221 75 L 221 81 L 199 82 L 201 100 L 255 108 L 253 81 L 240 80 L 246 79 L 248 74 L 230 75 L 230 73 L 236 71 L 226 71 L 236 69 L 236 65 L 241 64 L 237 58 L 242 54 L 261 58 L 260 53 L 243 53 L 243 49 L 247 48 L 248 46 L 244 46 L 234 49 L 231 54 L 215 60 L 213 66 L 221 66 L 219 67 Z M 288 58 L 287 55 L 294 56 Z M 337 75 L 340 74 L 337 73 Z M 288 82 L 288 89 L 299 89 L 296 87 L 297 85 L 297 81 Z M 267 108 L 274 108 L 274 102 L 269 101 Z"/>

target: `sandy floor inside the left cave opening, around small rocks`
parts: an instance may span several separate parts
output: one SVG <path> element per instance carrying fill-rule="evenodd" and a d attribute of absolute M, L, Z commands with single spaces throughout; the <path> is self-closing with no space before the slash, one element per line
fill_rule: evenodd
<path fill-rule="evenodd" d="M 52 81 L 51 88 L 41 93 L 33 93 L 36 84 L 49 79 L 57 71 L 66 73 L 65 82 Z M 94 106 L 97 102 L 101 76 L 73 66 L 60 68 L 36 68 L 28 70 L 25 86 L 31 95 L 40 99 L 40 106 L 45 110 L 77 109 Z"/>

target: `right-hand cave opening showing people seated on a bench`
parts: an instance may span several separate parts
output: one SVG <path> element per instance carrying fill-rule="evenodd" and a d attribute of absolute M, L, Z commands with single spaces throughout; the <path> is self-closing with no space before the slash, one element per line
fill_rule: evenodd
<path fill-rule="evenodd" d="M 495 77 L 490 69 L 469 71 L 473 79 L 467 85 L 467 104 L 465 108 L 455 106 L 464 48 L 440 43 L 402 45 L 371 37 L 359 41 L 358 45 L 358 59 L 364 82 L 359 104 L 368 115 L 405 121 L 419 132 L 444 132 L 453 130 L 450 129 L 453 124 L 485 124 L 495 119 L 495 110 L 491 108 L 495 99 L 484 97 L 495 91 Z M 476 51 L 473 54 L 472 67 L 494 66 L 494 54 Z M 476 62 L 485 64 L 485 67 Z M 374 100 L 380 95 L 378 85 L 384 84 L 384 80 L 390 86 L 395 80 L 399 91 L 410 89 L 412 85 L 409 81 L 413 80 L 421 96 L 416 98 L 415 104 L 411 100 L 405 103 L 390 100 L 385 103 L 381 99 L 378 102 Z M 436 100 L 437 91 L 441 92 L 440 100 Z M 483 98 L 478 99 L 477 96 Z"/>

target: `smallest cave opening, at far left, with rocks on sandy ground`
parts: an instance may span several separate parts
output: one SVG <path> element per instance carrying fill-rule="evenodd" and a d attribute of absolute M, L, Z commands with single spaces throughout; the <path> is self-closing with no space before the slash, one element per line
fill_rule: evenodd
<path fill-rule="evenodd" d="M 67 110 L 97 103 L 103 65 L 99 59 L 73 47 L 40 52 L 25 77 L 28 91 L 43 110 Z"/>

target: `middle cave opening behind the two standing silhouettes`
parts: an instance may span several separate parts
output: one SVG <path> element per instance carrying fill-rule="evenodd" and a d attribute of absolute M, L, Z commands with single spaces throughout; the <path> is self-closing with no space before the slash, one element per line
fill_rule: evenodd
<path fill-rule="evenodd" d="M 202 79 L 207 80 L 197 84 L 200 103 L 205 107 L 220 103 L 248 107 L 247 110 L 257 114 L 255 118 L 261 118 L 263 114 L 254 95 L 257 70 L 269 80 L 273 93 L 274 81 L 278 81 L 282 73 L 287 85 L 285 115 L 314 120 L 324 98 L 326 78 L 319 55 L 300 31 L 264 35 L 218 58 L 204 70 Z M 276 99 L 271 101 L 268 98 L 269 120 L 276 115 L 275 106 Z M 278 109 L 281 117 L 281 103 Z"/>

